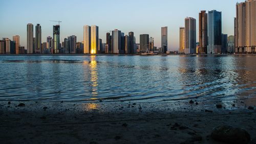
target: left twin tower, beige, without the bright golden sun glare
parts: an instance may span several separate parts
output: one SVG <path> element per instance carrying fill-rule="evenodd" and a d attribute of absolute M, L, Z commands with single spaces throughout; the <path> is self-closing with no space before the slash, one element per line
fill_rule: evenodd
<path fill-rule="evenodd" d="M 83 26 L 83 53 L 90 53 L 91 51 L 91 26 Z"/>

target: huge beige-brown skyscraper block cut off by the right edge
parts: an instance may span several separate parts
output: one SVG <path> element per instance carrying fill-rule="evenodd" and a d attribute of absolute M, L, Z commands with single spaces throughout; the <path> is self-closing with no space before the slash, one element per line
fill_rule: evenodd
<path fill-rule="evenodd" d="M 235 18 L 236 52 L 255 52 L 256 48 L 256 0 L 237 3 Z"/>

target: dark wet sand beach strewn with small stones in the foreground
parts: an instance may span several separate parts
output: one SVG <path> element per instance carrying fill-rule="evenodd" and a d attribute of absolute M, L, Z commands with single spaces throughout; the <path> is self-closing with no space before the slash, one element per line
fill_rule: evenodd
<path fill-rule="evenodd" d="M 220 143 L 210 134 L 222 125 L 245 129 L 256 143 L 256 110 L 216 103 L 2 101 L 0 143 Z"/>

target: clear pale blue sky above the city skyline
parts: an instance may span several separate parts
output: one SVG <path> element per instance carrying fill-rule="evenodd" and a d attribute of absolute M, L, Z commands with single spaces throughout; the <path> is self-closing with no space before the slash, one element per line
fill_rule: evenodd
<path fill-rule="evenodd" d="M 105 42 L 106 32 L 118 28 L 127 35 L 134 32 L 155 38 L 161 46 L 161 26 L 168 26 L 168 50 L 179 48 L 179 27 L 185 17 L 197 19 L 201 10 L 222 11 L 222 33 L 233 35 L 236 3 L 241 0 L 8 0 L 0 5 L 0 37 L 20 36 L 20 45 L 27 47 L 27 23 L 41 24 L 42 42 L 52 36 L 53 25 L 60 20 L 60 38 L 76 35 L 83 40 L 83 25 L 98 25 L 99 38 Z M 34 29 L 35 30 L 35 29 Z M 34 35 L 35 36 L 35 35 Z M 198 40 L 198 38 L 197 38 Z"/>

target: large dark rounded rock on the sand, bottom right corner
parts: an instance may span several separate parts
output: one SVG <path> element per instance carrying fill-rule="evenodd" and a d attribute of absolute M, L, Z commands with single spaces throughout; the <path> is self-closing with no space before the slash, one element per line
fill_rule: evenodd
<path fill-rule="evenodd" d="M 241 128 L 233 128 L 231 126 L 219 126 L 211 132 L 212 139 L 225 143 L 241 143 L 250 142 L 250 134 Z"/>

